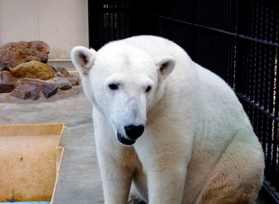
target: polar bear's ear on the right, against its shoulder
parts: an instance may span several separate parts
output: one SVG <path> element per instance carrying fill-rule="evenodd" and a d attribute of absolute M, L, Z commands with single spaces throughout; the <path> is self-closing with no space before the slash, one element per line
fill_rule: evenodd
<path fill-rule="evenodd" d="M 157 65 L 159 66 L 159 73 L 163 78 L 166 78 L 175 66 L 175 58 L 172 56 L 165 56 L 161 58 Z"/>

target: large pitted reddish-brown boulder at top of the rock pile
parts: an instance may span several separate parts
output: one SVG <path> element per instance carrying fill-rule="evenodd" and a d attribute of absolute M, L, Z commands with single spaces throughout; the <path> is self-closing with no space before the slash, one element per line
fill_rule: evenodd
<path fill-rule="evenodd" d="M 47 63 L 49 51 L 48 44 L 39 40 L 7 43 L 0 48 L 0 67 L 15 67 L 33 60 Z"/>

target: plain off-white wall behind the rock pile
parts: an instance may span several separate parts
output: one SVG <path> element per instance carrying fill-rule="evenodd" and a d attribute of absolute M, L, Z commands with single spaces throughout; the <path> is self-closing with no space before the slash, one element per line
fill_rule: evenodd
<path fill-rule="evenodd" d="M 87 0 L 0 0 L 0 46 L 42 40 L 49 60 L 70 60 L 75 46 L 88 47 Z"/>

